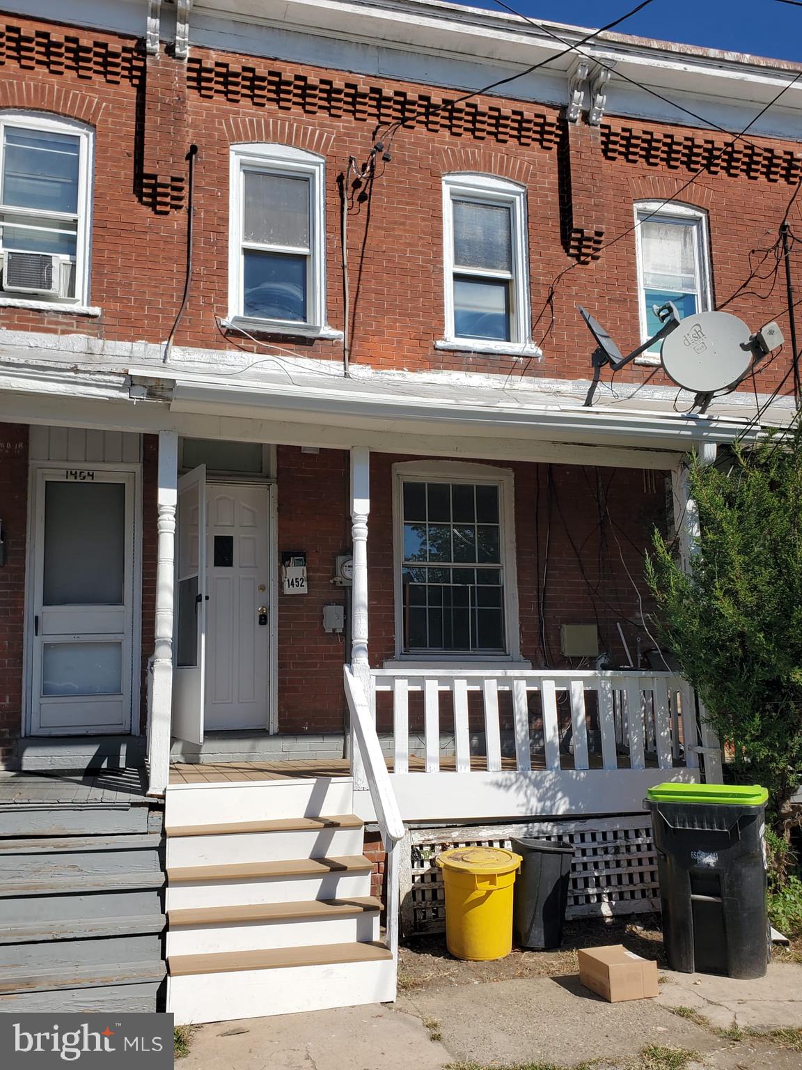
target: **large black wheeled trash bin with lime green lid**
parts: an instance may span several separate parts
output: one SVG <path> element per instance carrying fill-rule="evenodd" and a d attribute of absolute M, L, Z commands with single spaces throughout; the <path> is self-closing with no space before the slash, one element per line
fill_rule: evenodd
<path fill-rule="evenodd" d="M 670 969 L 749 980 L 769 964 L 765 788 L 650 788 Z"/>

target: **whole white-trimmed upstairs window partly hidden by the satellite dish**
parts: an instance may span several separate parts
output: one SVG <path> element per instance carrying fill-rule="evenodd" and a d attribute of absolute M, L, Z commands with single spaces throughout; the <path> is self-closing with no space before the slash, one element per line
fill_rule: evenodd
<path fill-rule="evenodd" d="M 710 308 L 707 215 L 685 204 L 644 201 L 635 205 L 641 335 L 657 334 L 654 305 L 673 302 L 681 319 Z M 654 347 L 660 349 L 660 342 Z"/>

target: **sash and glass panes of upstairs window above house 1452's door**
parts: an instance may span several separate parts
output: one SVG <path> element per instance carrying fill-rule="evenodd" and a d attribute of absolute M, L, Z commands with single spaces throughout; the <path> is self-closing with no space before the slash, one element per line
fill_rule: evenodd
<path fill-rule="evenodd" d="M 243 315 L 309 321 L 312 178 L 244 167 Z"/>

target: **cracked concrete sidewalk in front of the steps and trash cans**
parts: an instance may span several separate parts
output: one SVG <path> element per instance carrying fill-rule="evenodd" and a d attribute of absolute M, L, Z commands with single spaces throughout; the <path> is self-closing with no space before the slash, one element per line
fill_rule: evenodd
<path fill-rule="evenodd" d="M 469 975 L 468 975 L 469 976 Z M 677 1013 L 677 1008 L 681 1012 Z M 439 984 L 394 1006 L 352 1007 L 201 1026 L 182 1070 L 443 1070 L 516 1064 L 638 1070 L 646 1045 L 695 1053 L 687 1070 L 800 1070 L 785 1038 L 742 1027 L 802 1027 L 802 966 L 758 981 L 661 973 L 657 999 L 607 1004 L 575 975 Z M 722 1035 L 721 1029 L 727 1030 Z M 653 1066 L 654 1064 L 650 1064 Z"/>

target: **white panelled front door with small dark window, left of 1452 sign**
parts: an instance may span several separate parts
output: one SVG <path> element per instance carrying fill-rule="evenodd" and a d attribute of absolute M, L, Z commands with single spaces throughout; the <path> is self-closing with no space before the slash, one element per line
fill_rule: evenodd
<path fill-rule="evenodd" d="M 268 727 L 268 489 L 206 490 L 206 678 L 209 730 Z"/>

